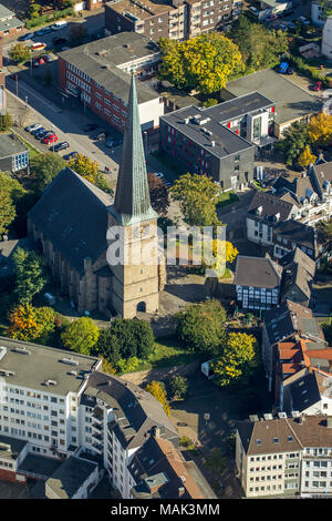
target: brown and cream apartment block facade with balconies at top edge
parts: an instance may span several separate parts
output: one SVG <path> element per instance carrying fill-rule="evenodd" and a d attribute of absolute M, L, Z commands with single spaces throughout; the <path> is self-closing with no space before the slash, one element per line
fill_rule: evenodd
<path fill-rule="evenodd" d="M 187 40 L 229 28 L 240 12 L 241 2 L 234 0 L 113 0 L 105 4 L 105 32 L 138 32 L 155 42 L 160 37 Z"/>

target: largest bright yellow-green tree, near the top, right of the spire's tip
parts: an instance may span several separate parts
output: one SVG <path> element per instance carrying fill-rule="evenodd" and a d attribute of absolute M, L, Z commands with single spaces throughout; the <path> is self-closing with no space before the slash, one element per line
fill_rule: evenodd
<path fill-rule="evenodd" d="M 160 38 L 163 61 L 159 74 L 178 88 L 198 89 L 209 94 L 222 89 L 243 63 L 237 44 L 219 32 L 209 32 L 184 42 Z"/>

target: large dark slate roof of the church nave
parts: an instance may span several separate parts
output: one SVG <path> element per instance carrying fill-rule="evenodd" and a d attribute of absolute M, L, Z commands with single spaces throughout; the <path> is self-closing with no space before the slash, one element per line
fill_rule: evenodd
<path fill-rule="evenodd" d="M 82 275 L 84 258 L 94 263 L 107 248 L 112 203 L 108 194 L 66 167 L 44 190 L 28 216 Z"/>

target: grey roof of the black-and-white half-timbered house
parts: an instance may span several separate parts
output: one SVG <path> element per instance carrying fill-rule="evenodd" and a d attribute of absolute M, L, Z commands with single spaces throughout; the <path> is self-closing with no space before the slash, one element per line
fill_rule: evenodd
<path fill-rule="evenodd" d="M 236 285 L 276 288 L 281 282 L 281 275 L 282 267 L 270 258 L 237 256 Z"/>

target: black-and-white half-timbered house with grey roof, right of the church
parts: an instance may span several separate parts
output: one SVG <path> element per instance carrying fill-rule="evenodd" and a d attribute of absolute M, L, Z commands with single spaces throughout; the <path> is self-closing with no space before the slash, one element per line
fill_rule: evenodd
<path fill-rule="evenodd" d="M 282 267 L 268 257 L 237 256 L 234 283 L 245 309 L 270 309 L 280 297 Z"/>

